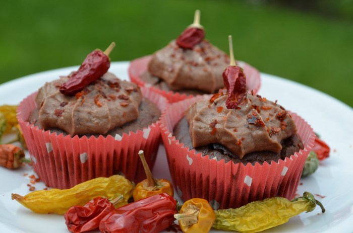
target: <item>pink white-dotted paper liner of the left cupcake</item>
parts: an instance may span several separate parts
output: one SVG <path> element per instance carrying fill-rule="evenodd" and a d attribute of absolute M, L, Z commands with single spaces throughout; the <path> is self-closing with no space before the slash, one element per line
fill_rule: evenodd
<path fill-rule="evenodd" d="M 141 88 L 141 91 L 163 114 L 168 106 L 167 100 L 147 88 Z M 17 119 L 34 171 L 47 186 L 67 189 L 96 177 L 114 174 L 124 175 L 135 183 L 140 182 L 146 178 L 138 156 L 140 149 L 144 150 L 146 161 L 153 168 L 161 138 L 159 120 L 147 128 L 115 137 L 56 135 L 27 121 L 36 108 L 36 95 L 33 93 L 20 103 Z"/>

